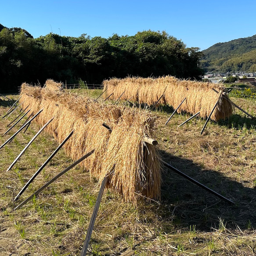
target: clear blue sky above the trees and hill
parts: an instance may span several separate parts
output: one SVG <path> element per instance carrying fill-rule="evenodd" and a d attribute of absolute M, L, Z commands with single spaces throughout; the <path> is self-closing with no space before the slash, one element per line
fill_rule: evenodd
<path fill-rule="evenodd" d="M 35 38 L 50 32 L 108 38 L 151 29 L 204 50 L 256 34 L 255 0 L 0 0 L 0 6 L 0 24 Z"/>

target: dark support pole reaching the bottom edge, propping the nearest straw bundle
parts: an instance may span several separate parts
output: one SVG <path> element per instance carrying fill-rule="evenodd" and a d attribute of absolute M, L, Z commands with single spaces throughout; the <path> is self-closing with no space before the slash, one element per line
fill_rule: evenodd
<path fill-rule="evenodd" d="M 95 223 L 95 220 L 96 220 L 96 217 L 97 217 L 98 210 L 100 208 L 102 195 L 103 195 L 104 189 L 106 187 L 107 181 L 108 181 L 108 177 L 105 177 L 104 180 L 101 183 L 101 188 L 100 188 L 99 194 L 97 196 L 97 200 L 96 200 L 96 203 L 95 203 L 95 206 L 94 206 L 94 211 L 93 211 L 93 214 L 92 214 L 91 219 L 90 219 L 90 224 L 89 224 L 88 229 L 87 229 L 86 238 L 85 238 L 85 241 L 83 243 L 83 249 L 81 251 L 81 256 L 85 256 L 86 253 L 87 253 L 88 245 L 89 245 L 89 242 L 90 242 L 90 237 L 91 237 L 91 234 L 92 234 L 92 231 L 93 231 L 93 228 L 94 228 L 94 223 Z"/>

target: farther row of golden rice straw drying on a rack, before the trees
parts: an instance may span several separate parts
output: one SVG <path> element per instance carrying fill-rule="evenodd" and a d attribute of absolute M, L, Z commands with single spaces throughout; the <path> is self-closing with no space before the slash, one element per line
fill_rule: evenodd
<path fill-rule="evenodd" d="M 115 78 L 105 80 L 103 84 L 106 95 L 113 93 L 112 99 L 117 99 L 125 90 L 121 99 L 128 100 L 132 97 L 133 101 L 138 101 L 140 104 L 154 105 L 164 93 L 164 97 L 161 98 L 159 103 L 166 103 L 173 106 L 173 108 L 177 108 L 186 97 L 186 101 L 184 101 L 177 112 L 188 112 L 191 114 L 200 112 L 199 116 L 202 118 L 209 116 L 216 101 L 220 98 L 211 119 L 217 121 L 232 115 L 231 103 L 225 97 L 216 94 L 212 90 L 212 88 L 215 88 L 221 93 L 224 91 L 222 85 L 179 80 L 172 76 L 159 77 L 157 79 L 141 77 Z"/>

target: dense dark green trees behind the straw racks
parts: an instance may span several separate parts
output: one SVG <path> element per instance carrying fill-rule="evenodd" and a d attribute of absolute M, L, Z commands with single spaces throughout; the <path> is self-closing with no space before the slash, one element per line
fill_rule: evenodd
<path fill-rule="evenodd" d="M 101 84 L 110 77 L 164 76 L 198 79 L 199 48 L 187 48 L 166 32 L 151 30 L 108 39 L 50 33 L 33 38 L 21 28 L 0 24 L 0 90 L 54 79 L 66 83 Z"/>

